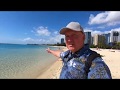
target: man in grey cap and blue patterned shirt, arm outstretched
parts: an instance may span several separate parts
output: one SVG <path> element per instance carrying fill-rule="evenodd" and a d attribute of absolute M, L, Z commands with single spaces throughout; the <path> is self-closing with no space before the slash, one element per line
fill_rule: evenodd
<path fill-rule="evenodd" d="M 64 63 L 60 79 L 112 79 L 109 67 L 101 57 L 92 58 L 89 62 L 92 50 L 84 44 L 85 34 L 78 22 L 70 22 L 60 30 L 60 34 L 65 35 L 68 50 L 60 52 L 47 49 Z"/>

